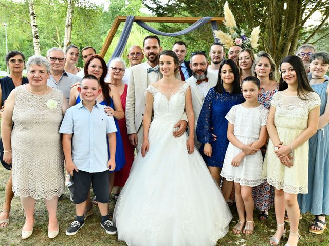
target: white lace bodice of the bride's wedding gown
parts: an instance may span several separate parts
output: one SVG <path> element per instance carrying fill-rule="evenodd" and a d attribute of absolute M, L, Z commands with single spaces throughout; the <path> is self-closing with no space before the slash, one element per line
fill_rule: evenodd
<path fill-rule="evenodd" d="M 189 88 L 188 84 L 183 84 L 177 92 L 172 95 L 165 95 L 152 85 L 147 91 L 153 95 L 153 121 L 163 120 L 163 122 L 175 122 L 181 119 L 185 108 L 185 93 Z"/>

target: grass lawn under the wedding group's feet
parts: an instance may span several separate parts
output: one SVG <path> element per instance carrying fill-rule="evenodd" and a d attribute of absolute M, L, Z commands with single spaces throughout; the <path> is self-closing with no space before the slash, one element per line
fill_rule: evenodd
<path fill-rule="evenodd" d="M 0 204 L 4 203 L 5 185 L 10 172 L 3 167 L 0 168 Z M 24 216 L 20 199 L 14 197 L 10 213 L 10 225 L 8 228 L 0 229 L 0 245 L 107 245 L 121 246 L 126 245 L 118 241 L 117 235 L 108 235 L 100 227 L 100 214 L 97 207 L 94 206 L 94 214 L 87 218 L 85 226 L 75 235 L 68 237 L 65 230 L 75 217 L 75 206 L 68 199 L 68 191 L 62 196 L 58 204 L 58 220 L 60 224 L 60 233 L 55 239 L 49 239 L 47 236 L 48 216 L 44 200 L 36 203 L 35 226 L 33 235 L 26 240 L 21 238 L 21 230 L 24 224 Z M 114 208 L 114 201 L 110 203 L 111 211 Z M 255 215 L 256 215 L 255 211 Z M 232 207 L 233 221 L 230 224 L 230 230 L 237 221 L 235 207 Z M 200 218 L 202 219 L 202 218 Z M 308 232 L 308 226 L 312 222 L 313 216 L 303 214 L 300 222 L 300 234 L 302 239 L 299 246 L 324 246 L 329 245 L 329 230 L 325 230 L 322 235 L 315 235 Z M 197 222 L 197 221 L 196 221 Z M 265 222 L 260 222 L 255 218 L 256 229 L 251 236 L 237 236 L 229 232 L 224 238 L 218 241 L 217 245 L 240 245 L 240 246 L 262 246 L 269 245 L 269 238 L 274 234 L 276 222 L 274 210 L 270 211 L 270 218 Z M 289 230 L 289 226 L 287 227 Z M 197 233 L 197 232 L 196 232 Z M 288 235 L 288 234 L 287 234 Z M 280 245 L 284 245 L 287 239 L 283 239 Z M 156 246 L 156 245 L 155 245 Z M 193 245 L 194 246 L 194 245 Z M 203 245 L 195 245 L 203 246 Z"/>

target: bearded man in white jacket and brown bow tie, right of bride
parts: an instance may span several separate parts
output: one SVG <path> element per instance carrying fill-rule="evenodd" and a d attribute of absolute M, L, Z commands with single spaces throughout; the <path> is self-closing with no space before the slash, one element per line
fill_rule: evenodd
<path fill-rule="evenodd" d="M 192 92 L 192 104 L 194 111 L 196 130 L 197 120 L 199 118 L 202 105 L 204 103 L 205 97 L 210 88 L 217 84 L 218 74 L 208 73 L 208 59 L 204 51 L 197 51 L 191 53 L 190 67 L 192 69 L 192 77 L 186 80 L 186 83 L 190 85 Z M 194 131 L 194 143 L 196 147 L 200 148 L 200 143 L 197 141 L 197 137 Z"/>

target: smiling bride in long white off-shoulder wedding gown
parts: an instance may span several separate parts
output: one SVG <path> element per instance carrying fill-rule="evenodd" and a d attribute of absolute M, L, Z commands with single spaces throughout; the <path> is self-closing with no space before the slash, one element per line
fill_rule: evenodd
<path fill-rule="evenodd" d="M 147 88 L 141 151 L 114 210 L 118 239 L 129 246 L 216 245 L 232 219 L 205 162 L 194 152 L 191 90 L 175 78 L 177 66 L 173 51 L 160 53 L 163 78 Z M 175 138 L 173 126 L 184 110 L 189 136 Z"/>

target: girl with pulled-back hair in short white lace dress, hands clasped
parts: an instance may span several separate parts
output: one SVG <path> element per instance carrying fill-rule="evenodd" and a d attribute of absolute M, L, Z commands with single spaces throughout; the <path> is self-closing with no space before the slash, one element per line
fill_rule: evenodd
<path fill-rule="evenodd" d="M 264 182 L 260 148 L 267 138 L 268 110 L 258 103 L 260 86 L 258 78 L 246 77 L 242 81 L 242 94 L 246 101 L 234 105 L 225 117 L 229 122 L 227 138 L 230 143 L 226 150 L 221 176 L 227 181 L 234 181 L 239 214 L 239 222 L 233 228 L 235 234 L 242 232 L 250 235 L 254 232 L 252 188 Z"/>

